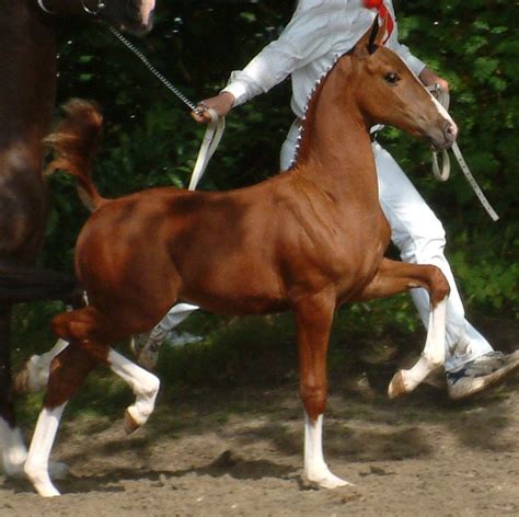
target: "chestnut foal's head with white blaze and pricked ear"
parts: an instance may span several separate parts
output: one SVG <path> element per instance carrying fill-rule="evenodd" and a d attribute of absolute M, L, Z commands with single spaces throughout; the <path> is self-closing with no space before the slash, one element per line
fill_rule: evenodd
<path fill-rule="evenodd" d="M 348 88 L 368 125 L 389 124 L 428 141 L 435 149 L 452 146 L 458 127 L 405 62 L 381 46 L 385 27 L 372 28 L 351 53 Z"/>

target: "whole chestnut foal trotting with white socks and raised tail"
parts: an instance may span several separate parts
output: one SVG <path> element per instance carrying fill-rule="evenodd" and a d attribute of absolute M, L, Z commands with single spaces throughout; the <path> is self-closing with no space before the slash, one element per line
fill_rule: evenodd
<path fill-rule="evenodd" d="M 91 306 L 53 321 L 70 345 L 53 361 L 25 463 L 41 495 L 59 495 L 48 457 L 67 401 L 95 365 L 109 366 L 136 393 L 126 429 L 146 423 L 159 379 L 109 345 L 150 330 L 178 299 L 220 314 L 295 312 L 304 475 L 318 486 L 347 484 L 330 471 L 322 451 L 326 349 L 339 305 L 428 289 L 424 352 L 411 370 L 395 375 L 390 397 L 412 391 L 442 365 L 448 283 L 432 265 L 383 256 L 390 231 L 378 200 L 369 128 L 391 124 L 438 149 L 451 146 L 458 129 L 374 35 L 337 59 L 315 88 L 295 165 L 247 188 L 164 187 L 104 199 L 90 180 L 101 115 L 83 101 L 68 104 L 68 117 L 48 142 L 58 151 L 51 166 L 78 176 L 97 207 L 76 250 L 76 272 Z"/>

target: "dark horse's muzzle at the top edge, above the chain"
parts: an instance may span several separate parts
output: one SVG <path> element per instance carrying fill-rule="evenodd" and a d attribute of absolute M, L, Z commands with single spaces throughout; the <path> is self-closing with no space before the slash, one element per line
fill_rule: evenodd
<path fill-rule="evenodd" d="M 155 0 L 37 0 L 37 3 L 49 14 L 83 14 L 138 35 L 151 30 L 155 7 Z"/>

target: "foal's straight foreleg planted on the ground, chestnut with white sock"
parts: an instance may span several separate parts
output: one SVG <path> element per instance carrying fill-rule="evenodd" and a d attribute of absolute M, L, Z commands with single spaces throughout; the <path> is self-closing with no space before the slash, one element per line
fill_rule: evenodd
<path fill-rule="evenodd" d="M 299 345 L 300 397 L 304 405 L 304 476 L 323 489 L 349 484 L 334 475 L 323 456 L 323 414 L 326 406 L 326 352 L 335 296 L 324 291 L 299 301 L 296 323 Z"/>

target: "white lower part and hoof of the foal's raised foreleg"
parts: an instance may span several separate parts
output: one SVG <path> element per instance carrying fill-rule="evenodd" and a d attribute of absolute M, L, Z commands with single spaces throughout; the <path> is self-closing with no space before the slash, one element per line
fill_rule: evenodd
<path fill-rule="evenodd" d="M 431 371 L 441 367 L 446 357 L 447 297 L 429 314 L 427 338 L 419 359 L 410 370 L 401 370 L 393 377 L 388 393 L 391 398 L 413 391 Z M 404 392 L 400 392 L 395 379 L 403 382 Z"/>

